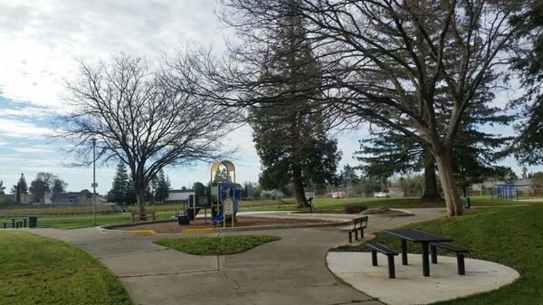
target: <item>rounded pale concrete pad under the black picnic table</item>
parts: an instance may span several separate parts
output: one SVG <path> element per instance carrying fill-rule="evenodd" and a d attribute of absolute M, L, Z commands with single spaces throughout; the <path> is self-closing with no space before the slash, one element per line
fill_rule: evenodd
<path fill-rule="evenodd" d="M 430 264 L 430 276 L 423 276 L 421 254 L 408 254 L 409 264 L 395 257 L 395 279 L 388 278 L 386 256 L 377 254 L 374 267 L 371 253 L 330 252 L 329 270 L 357 291 L 388 305 L 430 304 L 475 293 L 492 291 L 519 278 L 519 272 L 497 262 L 465 259 L 466 275 L 457 273 L 456 258 L 438 256 Z"/>

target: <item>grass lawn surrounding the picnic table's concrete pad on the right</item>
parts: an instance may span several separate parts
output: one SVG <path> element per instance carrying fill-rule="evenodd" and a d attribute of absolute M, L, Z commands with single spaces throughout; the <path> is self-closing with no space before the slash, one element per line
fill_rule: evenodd
<path fill-rule="evenodd" d="M 472 251 L 471 257 L 499 262 L 520 272 L 518 281 L 497 291 L 438 304 L 543 304 L 542 219 L 543 205 L 529 205 L 477 210 L 461 217 L 408 225 L 414 229 L 451 236 L 455 244 Z M 376 241 L 400 249 L 399 239 L 386 234 L 377 234 Z M 343 246 L 333 251 L 368 250 L 360 245 Z M 420 249 L 412 246 L 410 252 L 420 252 Z"/>

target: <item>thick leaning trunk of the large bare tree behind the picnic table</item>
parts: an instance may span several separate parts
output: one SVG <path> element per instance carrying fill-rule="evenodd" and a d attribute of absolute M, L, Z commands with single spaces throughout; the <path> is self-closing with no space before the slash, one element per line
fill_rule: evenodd
<path fill-rule="evenodd" d="M 443 196 L 445 197 L 445 205 L 447 206 L 447 214 L 449 216 L 462 215 L 462 199 L 453 176 L 451 156 L 443 152 L 437 154 L 435 159 L 443 188 Z"/>

